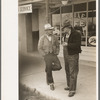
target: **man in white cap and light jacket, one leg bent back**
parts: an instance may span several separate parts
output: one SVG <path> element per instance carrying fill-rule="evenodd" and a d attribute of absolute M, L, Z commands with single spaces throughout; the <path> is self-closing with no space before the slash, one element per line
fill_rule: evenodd
<path fill-rule="evenodd" d="M 57 57 L 60 49 L 59 42 L 57 37 L 53 35 L 53 29 L 54 28 L 51 27 L 50 24 L 45 24 L 45 34 L 40 37 L 38 43 L 38 50 L 44 57 L 44 61 L 46 63 L 46 79 L 51 90 L 55 89 L 52 75 L 52 71 L 54 70 L 53 67 L 57 66 L 61 69 L 61 64 Z"/>

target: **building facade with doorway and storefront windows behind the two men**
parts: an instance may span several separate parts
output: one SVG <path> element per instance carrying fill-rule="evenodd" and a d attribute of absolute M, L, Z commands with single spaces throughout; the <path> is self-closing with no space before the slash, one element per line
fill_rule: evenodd
<path fill-rule="evenodd" d="M 45 33 L 44 24 L 48 15 L 49 23 L 56 27 L 60 39 L 65 20 L 70 20 L 73 27 L 77 24 L 82 27 L 83 56 L 92 56 L 96 61 L 96 1 L 69 0 L 66 5 L 61 4 L 61 0 L 48 1 L 48 14 L 45 0 L 19 1 L 19 7 L 32 4 L 31 13 L 19 14 L 19 51 L 29 53 L 37 50 L 38 40 Z"/>

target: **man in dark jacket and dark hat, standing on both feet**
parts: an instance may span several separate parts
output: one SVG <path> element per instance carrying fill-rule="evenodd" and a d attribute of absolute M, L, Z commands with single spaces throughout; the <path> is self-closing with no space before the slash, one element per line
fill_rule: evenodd
<path fill-rule="evenodd" d="M 66 22 L 63 31 L 64 42 L 62 45 L 68 86 L 65 90 L 69 90 L 68 96 L 72 97 L 76 92 L 77 75 L 79 70 L 79 53 L 81 53 L 81 34 L 71 27 L 70 22 Z"/>

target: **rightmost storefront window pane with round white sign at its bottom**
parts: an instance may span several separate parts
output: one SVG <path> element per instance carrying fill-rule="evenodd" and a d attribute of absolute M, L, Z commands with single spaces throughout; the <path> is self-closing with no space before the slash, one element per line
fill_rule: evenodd
<path fill-rule="evenodd" d="M 96 46 L 96 2 L 88 3 L 87 46 Z"/>

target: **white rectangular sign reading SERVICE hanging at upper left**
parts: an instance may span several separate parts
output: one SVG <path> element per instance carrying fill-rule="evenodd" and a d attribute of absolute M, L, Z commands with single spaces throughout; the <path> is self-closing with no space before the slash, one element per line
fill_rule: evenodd
<path fill-rule="evenodd" d="M 18 13 L 19 13 L 19 14 L 23 14 L 23 13 L 32 13 L 32 4 L 19 6 L 19 7 L 18 7 Z"/>

